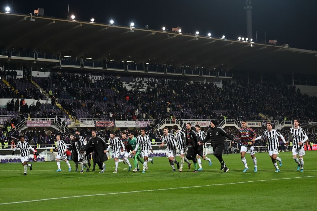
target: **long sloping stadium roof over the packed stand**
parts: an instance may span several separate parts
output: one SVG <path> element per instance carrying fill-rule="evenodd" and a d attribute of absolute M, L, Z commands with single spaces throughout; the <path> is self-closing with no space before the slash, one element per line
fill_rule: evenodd
<path fill-rule="evenodd" d="M 228 70 L 313 72 L 315 51 L 145 28 L 0 12 L 0 46 Z M 176 27 L 176 26 L 175 26 Z M 133 29 L 133 32 L 131 31 Z M 198 40 L 196 39 L 198 38 Z"/>

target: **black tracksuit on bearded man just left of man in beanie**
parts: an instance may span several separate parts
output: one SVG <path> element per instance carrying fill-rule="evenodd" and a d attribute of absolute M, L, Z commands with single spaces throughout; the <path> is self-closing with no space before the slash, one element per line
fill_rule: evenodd
<path fill-rule="evenodd" d="M 186 158 L 192 160 L 194 163 L 197 163 L 197 154 L 203 157 L 203 146 L 197 144 L 198 141 L 201 141 L 200 137 L 195 131 L 195 127 L 191 127 L 190 131 L 186 131 L 186 143 L 188 143 L 188 150 Z"/>

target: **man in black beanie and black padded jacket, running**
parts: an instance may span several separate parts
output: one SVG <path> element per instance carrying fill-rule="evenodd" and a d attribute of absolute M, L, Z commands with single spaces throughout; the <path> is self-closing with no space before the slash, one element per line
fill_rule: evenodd
<path fill-rule="evenodd" d="M 198 145 L 201 145 L 207 142 L 208 140 L 211 141 L 212 148 L 214 150 L 214 155 L 219 160 L 221 164 L 220 170 L 223 170 L 223 172 L 229 171 L 228 167 L 222 159 L 225 137 L 227 137 L 229 140 L 232 140 L 232 137 L 228 133 L 224 132 L 224 130 L 221 127 L 217 127 L 215 120 L 211 120 L 210 128 L 207 130 L 206 138 L 201 142 L 198 142 Z"/>

